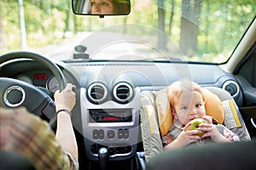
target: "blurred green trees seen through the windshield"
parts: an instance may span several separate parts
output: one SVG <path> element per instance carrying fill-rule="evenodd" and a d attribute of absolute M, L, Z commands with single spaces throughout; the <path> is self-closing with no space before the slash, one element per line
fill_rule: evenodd
<path fill-rule="evenodd" d="M 18 2 L 0 2 L 0 54 L 21 48 Z M 74 15 L 70 0 L 23 0 L 23 8 L 28 48 L 41 48 L 108 26 L 123 25 L 125 33 L 129 29 L 125 24 L 137 24 L 164 32 L 184 59 L 213 63 L 229 58 L 256 12 L 254 0 L 131 0 L 131 14 L 103 19 Z M 170 50 L 166 37 L 158 37 L 159 47 L 155 48 Z"/>

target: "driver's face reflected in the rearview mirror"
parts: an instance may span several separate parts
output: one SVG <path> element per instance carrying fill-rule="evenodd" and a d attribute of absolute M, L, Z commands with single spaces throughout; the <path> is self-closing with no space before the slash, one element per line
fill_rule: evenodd
<path fill-rule="evenodd" d="M 91 0 L 90 12 L 91 14 L 113 14 L 114 3 L 113 0 Z"/>

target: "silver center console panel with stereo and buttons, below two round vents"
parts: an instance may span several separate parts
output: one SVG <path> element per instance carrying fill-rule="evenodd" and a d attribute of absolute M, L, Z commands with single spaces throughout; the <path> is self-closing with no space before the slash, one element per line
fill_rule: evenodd
<path fill-rule="evenodd" d="M 135 88 L 129 102 L 108 100 L 97 105 L 81 88 L 81 119 L 86 156 L 91 161 L 99 160 L 99 150 L 108 149 L 109 160 L 130 159 L 141 142 L 139 127 L 139 89 Z"/>

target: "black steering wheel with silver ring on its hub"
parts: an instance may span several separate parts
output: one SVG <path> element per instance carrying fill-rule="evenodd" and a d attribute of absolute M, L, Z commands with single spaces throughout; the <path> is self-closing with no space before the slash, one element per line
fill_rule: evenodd
<path fill-rule="evenodd" d="M 61 69 L 54 62 L 40 54 L 31 52 L 13 52 L 0 56 L 0 65 L 11 59 L 33 59 L 49 68 L 53 72 L 63 90 L 66 85 L 66 79 Z M 16 79 L 0 77 L 0 106 L 5 108 L 15 108 L 24 106 L 27 111 L 40 116 L 47 121 L 51 127 L 55 127 L 56 113 L 55 102 L 39 88 L 32 84 L 22 82 Z"/>

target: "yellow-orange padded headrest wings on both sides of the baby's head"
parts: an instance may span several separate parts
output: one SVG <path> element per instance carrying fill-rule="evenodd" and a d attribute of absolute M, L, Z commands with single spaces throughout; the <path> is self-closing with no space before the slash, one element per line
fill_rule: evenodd
<path fill-rule="evenodd" d="M 202 90 L 206 102 L 207 115 L 217 120 L 218 124 L 222 124 L 224 122 L 224 108 L 221 100 L 207 88 L 202 88 Z M 158 91 L 155 97 L 160 135 L 164 136 L 172 127 L 173 122 L 172 109 L 168 99 L 168 88 Z"/>

